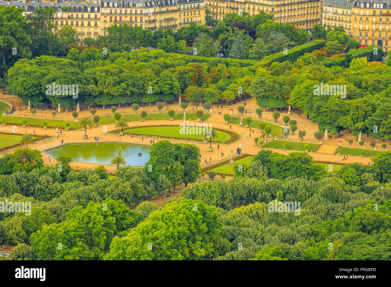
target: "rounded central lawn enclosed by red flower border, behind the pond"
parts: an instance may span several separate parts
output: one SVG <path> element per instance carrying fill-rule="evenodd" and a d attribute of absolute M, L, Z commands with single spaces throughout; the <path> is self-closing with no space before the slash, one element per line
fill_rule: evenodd
<path fill-rule="evenodd" d="M 172 137 L 186 137 L 190 139 L 203 139 L 204 136 L 202 134 L 180 134 L 179 131 L 182 128 L 180 127 L 146 127 L 146 128 L 132 128 L 129 130 L 124 130 L 124 132 L 131 132 L 135 134 L 150 134 L 150 135 L 165 135 L 165 136 L 172 136 Z M 202 132 L 200 129 L 199 132 Z M 216 140 L 218 141 L 226 141 L 230 139 L 230 135 L 226 134 L 225 132 L 221 132 L 219 130 L 216 130 L 218 138 Z"/>

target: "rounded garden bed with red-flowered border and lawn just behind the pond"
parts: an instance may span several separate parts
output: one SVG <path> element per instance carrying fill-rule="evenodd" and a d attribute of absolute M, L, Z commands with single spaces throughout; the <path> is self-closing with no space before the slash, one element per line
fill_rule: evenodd
<path fill-rule="evenodd" d="M 156 134 L 150 134 L 150 133 L 138 133 L 138 132 L 132 132 L 132 130 L 139 129 L 139 128 L 162 128 L 162 127 L 175 127 L 178 128 L 178 134 L 179 134 L 179 125 L 145 125 L 145 126 L 135 126 L 128 128 L 124 130 L 124 134 L 126 135 L 137 135 L 137 136 L 144 136 L 144 137 L 157 137 L 157 138 L 163 138 L 163 139 L 179 139 L 179 140 L 190 140 L 190 141 L 197 141 L 197 142 L 203 142 L 203 136 L 202 134 L 186 134 L 187 137 L 176 137 L 172 135 L 165 135 L 167 132 L 164 132 L 164 130 L 161 130 L 159 132 L 156 132 Z M 233 143 L 237 141 L 240 136 L 239 134 L 232 132 L 230 130 L 225 130 L 222 128 L 213 128 L 217 131 L 217 134 L 219 134 L 219 137 L 224 136 L 224 140 L 212 140 L 212 143 Z M 120 129 L 113 130 L 111 133 L 118 134 L 120 132 Z M 168 132 L 168 134 L 172 133 L 172 131 Z M 191 136 L 197 136 L 199 138 L 191 137 Z M 209 142 L 209 140 L 208 140 Z"/>

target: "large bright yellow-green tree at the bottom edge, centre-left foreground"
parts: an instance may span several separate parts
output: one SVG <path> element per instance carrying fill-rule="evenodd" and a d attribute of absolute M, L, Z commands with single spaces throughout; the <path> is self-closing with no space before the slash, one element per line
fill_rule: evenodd
<path fill-rule="evenodd" d="M 168 214 L 170 216 L 167 216 Z M 178 218 L 184 219 L 181 220 L 181 228 L 177 226 Z M 106 258 L 200 260 L 220 255 L 222 225 L 217 218 L 216 208 L 208 207 L 202 201 L 183 200 L 169 203 L 162 210 L 149 214 L 148 218 L 126 237 L 115 237 Z M 152 228 L 155 225 L 162 228 Z M 171 240 L 167 241 L 167 238 Z"/>

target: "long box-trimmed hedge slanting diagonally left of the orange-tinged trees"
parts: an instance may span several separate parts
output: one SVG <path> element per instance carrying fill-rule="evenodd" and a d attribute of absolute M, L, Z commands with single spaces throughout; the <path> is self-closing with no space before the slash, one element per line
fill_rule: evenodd
<path fill-rule="evenodd" d="M 310 43 L 305 43 L 303 45 L 295 46 L 291 49 L 288 49 L 288 53 L 285 55 L 285 51 L 281 51 L 272 55 L 268 55 L 262 58 L 262 62 L 269 66 L 272 62 L 285 62 L 291 61 L 294 62 L 296 59 L 305 53 L 311 53 L 315 50 L 323 48 L 326 44 L 324 40 L 314 40 Z"/>

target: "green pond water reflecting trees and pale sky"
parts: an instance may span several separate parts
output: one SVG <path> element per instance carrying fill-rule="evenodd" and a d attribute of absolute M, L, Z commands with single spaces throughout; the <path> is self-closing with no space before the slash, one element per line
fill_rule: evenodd
<path fill-rule="evenodd" d="M 121 157 L 129 166 L 144 166 L 149 160 L 149 146 L 138 144 L 119 143 L 88 143 L 88 144 L 66 144 L 51 150 L 47 153 L 53 157 L 65 155 L 73 161 L 91 162 L 94 164 L 109 164 L 110 160 L 118 156 L 118 148 L 121 145 Z M 138 155 L 141 153 L 141 156 Z"/>

